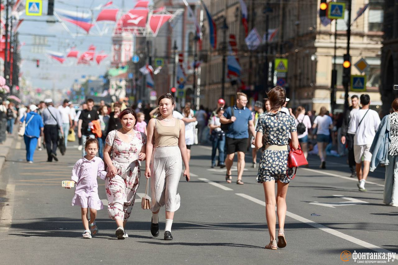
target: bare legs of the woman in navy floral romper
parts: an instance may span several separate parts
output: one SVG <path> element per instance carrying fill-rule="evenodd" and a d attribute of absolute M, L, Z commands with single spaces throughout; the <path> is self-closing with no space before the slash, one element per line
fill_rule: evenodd
<path fill-rule="evenodd" d="M 277 215 L 279 221 L 279 231 L 283 232 L 286 217 L 286 194 L 289 183 L 277 182 L 277 194 L 275 198 L 275 182 L 263 182 L 265 195 L 265 217 L 270 240 L 275 240 L 276 215 L 275 205 L 277 206 Z"/>

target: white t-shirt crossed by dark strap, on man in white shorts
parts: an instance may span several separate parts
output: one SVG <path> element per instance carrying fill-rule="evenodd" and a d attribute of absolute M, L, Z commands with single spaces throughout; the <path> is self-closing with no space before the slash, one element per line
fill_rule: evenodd
<path fill-rule="evenodd" d="M 361 120 L 361 125 L 359 125 Z M 378 125 L 380 125 L 380 117 L 376 111 L 373 109 L 359 109 L 354 113 L 354 116 L 351 117 L 351 121 L 348 125 L 348 133 L 355 134 L 355 145 L 372 144 Z"/>

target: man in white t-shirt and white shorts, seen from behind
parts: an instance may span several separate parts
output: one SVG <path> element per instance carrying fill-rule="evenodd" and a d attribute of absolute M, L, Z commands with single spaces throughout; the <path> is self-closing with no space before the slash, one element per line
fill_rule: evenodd
<path fill-rule="evenodd" d="M 369 167 L 372 158 L 369 152 L 375 134 L 380 125 L 380 117 L 378 113 L 369 109 L 370 97 L 367 94 L 362 94 L 360 97 L 362 109 L 353 114 L 348 125 L 348 133 L 355 134 L 354 136 L 354 156 L 355 169 L 358 177 L 359 191 L 366 191 L 365 181 L 369 174 Z M 361 174 L 361 168 L 363 170 Z"/>

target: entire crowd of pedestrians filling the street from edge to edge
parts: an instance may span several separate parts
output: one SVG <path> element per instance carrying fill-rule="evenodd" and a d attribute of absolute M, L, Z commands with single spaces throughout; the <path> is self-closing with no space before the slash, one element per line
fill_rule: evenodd
<path fill-rule="evenodd" d="M 179 113 L 170 93 L 159 97 L 156 108 L 145 106 L 142 112 L 124 102 L 108 106 L 101 101 L 94 107 L 92 99 L 87 99 L 77 113 L 72 102 L 64 100 L 55 108 L 51 99 L 29 105 L 25 111 L 17 111 L 11 103 L 0 111 L 10 120 L 9 133 L 16 119 L 23 124 L 29 163 L 33 163 L 33 154 L 42 145 L 47 149 L 47 161 L 58 161 L 58 145 L 66 147 L 68 138 L 71 140 L 77 130 L 82 158 L 72 170 L 71 179 L 76 184 L 72 205 L 81 208 L 83 238 L 92 238 L 99 231 L 96 215 L 103 203 L 98 196 L 98 177 L 105 180 L 108 214 L 117 226 L 115 235 L 118 239 L 128 238 L 125 227 L 135 203 L 140 166 L 145 161 L 144 175 L 146 179 L 152 178 L 150 232 L 154 237 L 159 236 L 158 213 L 165 207 L 164 240 L 172 240 L 174 214 L 181 202 L 178 194 L 181 173 L 186 181 L 190 180 L 191 146 L 207 139 L 212 145 L 210 166 L 226 168 L 227 183 L 232 183 L 231 168 L 236 153 L 236 184 L 244 184 L 245 155 L 252 148 L 252 167 L 257 168 L 259 161 L 256 182 L 263 184 L 265 194 L 270 235 L 267 249 L 286 246 L 285 199 L 293 175 L 293 168 L 287 165 L 289 146 L 293 150 L 301 148 L 305 158 L 309 151 L 317 152 L 319 168 L 326 169 L 330 146 L 334 142 L 339 145 L 338 140 L 342 147 L 334 154 L 344 154 L 347 149 L 351 177 L 358 178 L 358 189 L 363 192 L 367 191 L 369 171 L 378 164 L 384 165 L 383 202 L 398 206 L 398 99 L 392 103 L 392 113 L 381 121 L 378 113 L 369 108 L 367 94 L 351 96 L 351 107 L 341 115 L 331 115 L 326 107 L 321 107 L 319 115 L 315 115 L 315 111 L 306 111 L 302 106 L 287 108 L 288 102 L 285 90 L 277 86 L 267 93 L 266 99 L 256 101 L 253 108 L 248 105 L 247 95 L 238 92 L 235 105 L 226 107 L 225 100 L 220 98 L 217 108 L 210 113 L 202 106 L 193 111 L 191 103 L 186 103 Z"/>

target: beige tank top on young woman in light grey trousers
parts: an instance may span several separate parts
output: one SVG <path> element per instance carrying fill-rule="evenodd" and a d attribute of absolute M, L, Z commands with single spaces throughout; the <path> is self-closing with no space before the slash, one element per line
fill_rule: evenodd
<path fill-rule="evenodd" d="M 159 120 L 155 119 L 154 147 L 178 146 L 180 124 L 176 119 L 174 126 L 163 126 Z"/>

